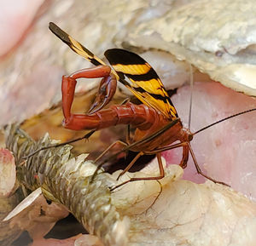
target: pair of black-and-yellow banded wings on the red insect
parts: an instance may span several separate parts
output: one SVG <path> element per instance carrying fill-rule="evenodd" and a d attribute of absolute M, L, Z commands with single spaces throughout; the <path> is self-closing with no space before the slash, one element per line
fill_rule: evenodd
<path fill-rule="evenodd" d="M 59 37 L 62 42 L 67 43 L 74 52 L 80 54 L 92 64 L 96 66 L 106 65 L 53 22 L 49 23 L 49 30 Z M 153 107 L 170 119 L 177 117 L 176 109 L 172 105 L 160 78 L 143 58 L 125 49 L 108 49 L 105 55 L 113 66 L 114 70 L 112 72 L 117 80 L 130 89 L 131 93 L 136 95 L 143 104 Z M 129 78 L 130 82 L 125 80 L 125 76 Z"/>

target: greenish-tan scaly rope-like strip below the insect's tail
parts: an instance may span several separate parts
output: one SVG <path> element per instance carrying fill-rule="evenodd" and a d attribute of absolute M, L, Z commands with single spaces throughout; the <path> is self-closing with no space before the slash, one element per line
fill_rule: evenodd
<path fill-rule="evenodd" d="M 127 243 L 123 232 L 124 228 L 127 232 L 129 228 L 111 203 L 108 174 L 98 174 L 91 182 L 86 165 L 90 168 L 92 163 L 84 161 L 85 155 L 73 157 L 70 152 L 73 147 L 68 145 L 38 152 L 24 163 L 22 157 L 26 154 L 53 143 L 49 135 L 45 134 L 37 142 L 16 124 L 9 125 L 5 135 L 6 146 L 14 153 L 17 178 L 22 185 L 31 191 L 41 186 L 45 198 L 65 205 L 88 232 L 101 238 L 104 245 Z M 121 237 L 117 230 L 120 226 L 123 229 Z"/>

